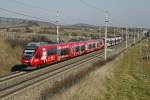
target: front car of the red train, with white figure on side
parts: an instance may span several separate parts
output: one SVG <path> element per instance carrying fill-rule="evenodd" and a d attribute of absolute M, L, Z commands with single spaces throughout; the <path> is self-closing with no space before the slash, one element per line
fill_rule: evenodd
<path fill-rule="evenodd" d="M 21 62 L 29 69 L 37 65 L 49 64 L 58 61 L 57 45 L 44 45 L 41 43 L 29 43 L 23 50 Z"/>

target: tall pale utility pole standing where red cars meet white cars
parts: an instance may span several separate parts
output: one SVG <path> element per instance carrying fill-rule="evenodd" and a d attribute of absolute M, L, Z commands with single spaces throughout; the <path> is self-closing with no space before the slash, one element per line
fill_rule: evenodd
<path fill-rule="evenodd" d="M 109 22 L 109 19 L 108 19 L 108 12 L 106 12 L 106 15 L 105 15 L 105 55 L 104 55 L 104 59 L 107 60 L 107 27 L 108 27 L 108 22 Z"/>

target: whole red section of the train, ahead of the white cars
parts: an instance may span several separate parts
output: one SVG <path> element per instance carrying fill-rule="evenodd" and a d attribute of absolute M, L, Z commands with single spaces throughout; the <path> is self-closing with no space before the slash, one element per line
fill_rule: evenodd
<path fill-rule="evenodd" d="M 35 69 L 39 65 L 52 64 L 102 48 L 104 48 L 103 39 L 60 44 L 32 42 L 25 46 L 21 62 L 27 66 L 26 69 Z"/>

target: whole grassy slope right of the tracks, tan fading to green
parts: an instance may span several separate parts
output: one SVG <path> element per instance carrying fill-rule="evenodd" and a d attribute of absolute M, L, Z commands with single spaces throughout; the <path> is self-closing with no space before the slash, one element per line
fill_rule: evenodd
<path fill-rule="evenodd" d="M 150 61 L 143 59 L 144 42 L 50 100 L 149 100 Z"/>

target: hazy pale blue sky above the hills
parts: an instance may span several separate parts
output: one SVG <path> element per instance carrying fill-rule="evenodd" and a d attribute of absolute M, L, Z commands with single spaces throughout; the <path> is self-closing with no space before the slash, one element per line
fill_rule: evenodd
<path fill-rule="evenodd" d="M 51 21 L 59 10 L 62 24 L 94 25 L 104 25 L 107 10 L 110 25 L 149 27 L 149 4 L 150 0 L 1 0 L 0 7 Z M 2 10 L 0 16 L 33 19 Z"/>

